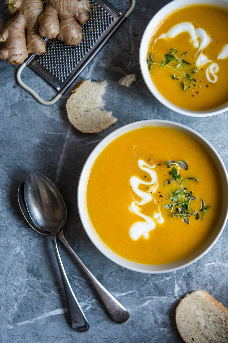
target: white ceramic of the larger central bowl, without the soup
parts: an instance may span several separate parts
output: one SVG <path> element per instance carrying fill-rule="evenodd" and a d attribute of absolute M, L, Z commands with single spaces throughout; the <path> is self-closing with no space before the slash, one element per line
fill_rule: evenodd
<path fill-rule="evenodd" d="M 173 262 L 169 264 L 162 264 L 162 265 L 140 264 L 140 263 L 128 261 L 116 255 L 116 253 L 114 253 L 110 248 L 108 248 L 97 235 L 89 219 L 89 215 L 87 212 L 87 205 L 86 205 L 86 187 L 87 187 L 87 182 L 90 175 L 90 170 L 97 156 L 100 154 L 100 152 L 111 141 L 121 136 L 125 132 L 138 129 L 147 125 L 163 126 L 163 127 L 177 129 L 177 130 L 187 133 L 192 138 L 194 138 L 197 142 L 199 142 L 204 147 L 207 153 L 211 156 L 215 166 L 217 167 L 218 175 L 220 177 L 220 182 L 223 185 L 222 190 L 221 190 L 222 202 L 221 202 L 220 214 L 218 216 L 218 221 L 214 227 L 212 234 L 207 238 L 204 244 L 197 251 L 195 251 L 190 257 L 182 259 L 177 262 Z M 227 171 L 224 166 L 224 163 L 221 160 L 221 157 L 218 155 L 218 153 L 214 149 L 214 147 L 198 132 L 190 129 L 189 127 L 185 125 L 181 125 L 179 123 L 168 121 L 168 120 L 160 120 L 160 119 L 141 120 L 141 121 L 137 121 L 137 122 L 125 125 L 119 128 L 118 130 L 115 130 L 114 132 L 110 133 L 93 149 L 93 151 L 87 158 L 86 163 L 81 171 L 81 175 L 78 182 L 78 194 L 77 194 L 78 212 L 81 219 L 81 223 L 83 224 L 83 227 L 88 237 L 92 241 L 92 243 L 107 258 L 109 258 L 113 262 L 121 265 L 122 267 L 135 270 L 138 272 L 143 272 L 143 273 L 171 272 L 171 271 L 186 267 L 187 265 L 199 260 L 208 250 L 211 249 L 211 247 L 216 243 L 217 239 L 223 232 L 223 229 L 226 225 L 226 221 L 228 217 L 227 202 L 228 202 L 228 175 L 227 175 Z M 107 230 L 108 229 L 109 228 L 107 228 Z"/>

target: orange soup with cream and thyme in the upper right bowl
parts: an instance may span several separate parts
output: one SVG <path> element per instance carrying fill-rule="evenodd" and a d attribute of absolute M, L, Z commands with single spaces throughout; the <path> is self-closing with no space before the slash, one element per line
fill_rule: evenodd
<path fill-rule="evenodd" d="M 190 5 L 161 22 L 151 38 L 148 67 L 167 100 L 190 110 L 227 102 L 227 32 L 228 11 L 212 5 Z M 165 54 L 169 60 L 166 65 Z"/>

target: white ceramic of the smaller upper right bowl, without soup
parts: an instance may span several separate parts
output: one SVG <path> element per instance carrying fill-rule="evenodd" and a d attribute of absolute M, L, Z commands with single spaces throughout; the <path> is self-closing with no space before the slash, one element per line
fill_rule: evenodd
<path fill-rule="evenodd" d="M 215 114 L 219 114 L 228 110 L 228 103 L 221 105 L 213 109 L 207 109 L 203 111 L 190 111 L 188 109 L 181 108 L 174 105 L 168 101 L 156 88 L 153 81 L 151 80 L 148 65 L 147 65 L 147 52 L 150 43 L 150 39 L 161 21 L 170 13 L 183 6 L 190 4 L 212 4 L 219 7 L 223 7 L 228 10 L 228 1 L 227 0 L 174 0 L 169 2 L 167 5 L 162 7 L 151 19 L 145 31 L 142 35 L 140 49 L 139 49 L 139 64 L 142 73 L 142 77 L 145 81 L 145 84 L 149 88 L 153 96 L 160 101 L 166 107 L 172 109 L 173 111 L 191 117 L 208 117 Z"/>

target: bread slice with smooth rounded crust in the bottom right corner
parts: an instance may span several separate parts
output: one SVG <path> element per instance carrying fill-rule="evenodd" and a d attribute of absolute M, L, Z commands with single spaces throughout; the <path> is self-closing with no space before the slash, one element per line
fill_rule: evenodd
<path fill-rule="evenodd" d="M 228 310 L 207 292 L 195 291 L 180 300 L 176 324 L 186 343 L 228 342 Z"/>

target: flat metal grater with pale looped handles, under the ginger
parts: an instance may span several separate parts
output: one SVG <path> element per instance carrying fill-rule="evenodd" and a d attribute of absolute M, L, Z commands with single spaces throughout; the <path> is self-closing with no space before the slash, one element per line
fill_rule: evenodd
<path fill-rule="evenodd" d="M 122 14 L 105 0 L 90 2 L 90 19 L 83 25 L 83 40 L 80 44 L 66 45 L 57 39 L 45 39 L 45 54 L 29 56 L 17 71 L 18 83 L 44 105 L 52 105 L 58 101 L 135 7 L 135 0 L 131 0 L 130 8 Z M 58 91 L 54 99 L 43 100 L 21 80 L 21 72 L 26 66 Z"/>

